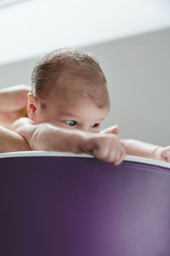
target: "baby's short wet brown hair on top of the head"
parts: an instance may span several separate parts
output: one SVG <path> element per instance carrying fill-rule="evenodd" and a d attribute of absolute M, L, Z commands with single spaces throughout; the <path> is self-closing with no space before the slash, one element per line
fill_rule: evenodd
<path fill-rule="evenodd" d="M 99 62 L 80 49 L 55 49 L 42 57 L 33 69 L 31 87 L 43 107 L 57 96 L 69 102 L 88 98 L 99 108 L 110 107 Z"/>

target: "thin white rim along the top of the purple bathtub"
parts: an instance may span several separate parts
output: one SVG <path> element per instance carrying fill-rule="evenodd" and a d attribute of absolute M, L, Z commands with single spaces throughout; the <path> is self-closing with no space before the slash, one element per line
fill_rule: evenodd
<path fill-rule="evenodd" d="M 73 154 L 70 152 L 58 152 L 58 151 L 19 151 L 19 152 L 8 152 L 0 153 L 0 159 L 4 158 L 15 158 L 15 157 L 82 157 L 82 158 L 94 158 L 90 154 Z M 170 169 L 170 163 L 163 162 L 161 160 L 152 160 L 149 158 L 127 155 L 124 159 L 125 161 L 143 163 L 153 166 L 161 166 Z"/>

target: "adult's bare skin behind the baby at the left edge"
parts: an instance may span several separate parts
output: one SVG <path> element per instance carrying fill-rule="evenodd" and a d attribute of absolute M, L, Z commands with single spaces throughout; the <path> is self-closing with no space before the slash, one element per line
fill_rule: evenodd
<path fill-rule="evenodd" d="M 15 119 L 23 116 L 29 91 L 30 87 L 27 85 L 16 85 L 0 90 L 0 123 L 2 125 L 9 126 Z M 26 150 L 31 148 L 23 137 L 0 125 L 0 153 Z"/>

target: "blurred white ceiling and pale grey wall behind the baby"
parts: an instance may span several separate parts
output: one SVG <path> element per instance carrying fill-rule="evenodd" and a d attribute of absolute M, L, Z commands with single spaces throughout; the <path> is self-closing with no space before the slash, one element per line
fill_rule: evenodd
<path fill-rule="evenodd" d="M 62 47 L 99 60 L 111 96 L 103 128 L 170 144 L 169 0 L 0 1 L 0 88 L 30 84 L 37 59 Z"/>

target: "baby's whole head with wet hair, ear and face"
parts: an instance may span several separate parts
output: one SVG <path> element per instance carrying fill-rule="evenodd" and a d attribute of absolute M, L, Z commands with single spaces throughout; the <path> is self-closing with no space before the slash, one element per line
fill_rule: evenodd
<path fill-rule="evenodd" d="M 31 83 L 28 116 L 36 124 L 99 131 L 110 99 L 105 75 L 93 56 L 79 49 L 56 49 L 37 61 Z"/>

